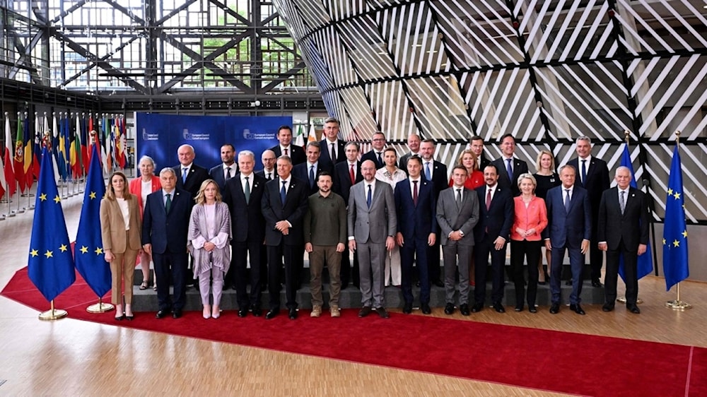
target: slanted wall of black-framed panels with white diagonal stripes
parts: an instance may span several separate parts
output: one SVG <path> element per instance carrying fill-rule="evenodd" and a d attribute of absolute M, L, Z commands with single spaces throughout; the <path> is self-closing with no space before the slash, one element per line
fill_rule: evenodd
<path fill-rule="evenodd" d="M 274 0 L 327 109 L 350 139 L 383 131 L 443 143 L 450 164 L 472 135 L 491 157 L 508 132 L 535 163 L 559 164 L 590 136 L 617 167 L 630 132 L 639 186 L 664 213 L 682 131 L 686 213 L 707 221 L 707 5 L 688 0 Z"/>

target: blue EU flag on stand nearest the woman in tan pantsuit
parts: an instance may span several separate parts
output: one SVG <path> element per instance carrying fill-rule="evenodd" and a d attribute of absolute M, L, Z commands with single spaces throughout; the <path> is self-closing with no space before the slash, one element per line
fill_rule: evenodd
<path fill-rule="evenodd" d="M 83 192 L 81 219 L 76 234 L 76 269 L 98 297 L 110 290 L 110 265 L 105 261 L 103 239 L 100 237 L 100 199 L 105 195 L 103 168 L 98 160 L 98 145 L 88 165 L 86 191 Z"/>

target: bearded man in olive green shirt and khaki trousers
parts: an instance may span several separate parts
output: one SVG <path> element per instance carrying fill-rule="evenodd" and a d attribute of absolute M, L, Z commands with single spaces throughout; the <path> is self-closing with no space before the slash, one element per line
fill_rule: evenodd
<path fill-rule="evenodd" d="M 325 260 L 329 266 L 329 312 L 341 316 L 341 252 L 346 247 L 346 203 L 332 192 L 332 174 L 322 171 L 317 176 L 319 191 L 309 196 L 305 215 L 305 251 L 310 259 L 310 289 L 312 290 L 312 317 L 322 315 L 322 270 Z"/>

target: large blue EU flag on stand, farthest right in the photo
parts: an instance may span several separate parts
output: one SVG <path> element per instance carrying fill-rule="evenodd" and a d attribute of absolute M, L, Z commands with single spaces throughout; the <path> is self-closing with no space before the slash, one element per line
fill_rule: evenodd
<path fill-rule="evenodd" d="M 690 275 L 687 266 L 687 227 L 685 199 L 682 192 L 682 167 L 678 145 L 672 153 L 670 177 L 665 198 L 665 228 L 663 229 L 663 273 L 666 290 Z"/>

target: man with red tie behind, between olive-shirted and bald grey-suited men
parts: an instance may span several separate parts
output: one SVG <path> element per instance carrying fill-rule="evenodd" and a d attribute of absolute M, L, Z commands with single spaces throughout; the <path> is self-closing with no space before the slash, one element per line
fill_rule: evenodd
<path fill-rule="evenodd" d="M 361 162 L 358 161 L 358 143 L 346 143 L 344 153 L 346 153 L 346 161 L 339 162 L 334 166 L 334 193 L 344 198 L 346 206 L 349 205 L 349 192 L 351 186 L 363 181 L 361 174 Z M 354 268 L 351 268 L 351 259 L 349 259 L 349 247 L 341 253 L 341 289 L 344 290 L 349 286 L 349 280 L 352 281 L 356 288 L 359 287 L 358 278 L 358 254 L 354 252 Z"/>

